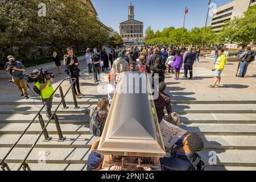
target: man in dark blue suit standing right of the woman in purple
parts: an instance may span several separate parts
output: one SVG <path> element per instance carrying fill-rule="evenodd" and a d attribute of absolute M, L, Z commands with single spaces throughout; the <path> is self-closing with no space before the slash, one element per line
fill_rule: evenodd
<path fill-rule="evenodd" d="M 196 60 L 196 53 L 192 52 L 191 48 L 188 48 L 188 53 L 185 55 L 184 60 L 184 75 L 188 78 L 188 71 L 189 71 L 189 79 L 193 77 L 193 64 Z"/>

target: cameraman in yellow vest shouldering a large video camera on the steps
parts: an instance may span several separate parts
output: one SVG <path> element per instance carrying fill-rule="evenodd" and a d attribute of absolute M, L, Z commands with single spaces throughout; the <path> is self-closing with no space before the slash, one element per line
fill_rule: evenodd
<path fill-rule="evenodd" d="M 55 94 L 52 94 L 54 92 L 53 87 L 51 85 L 51 82 L 53 81 L 53 78 L 50 78 L 49 80 L 45 79 L 45 82 L 35 82 L 35 86 L 40 90 L 40 97 L 42 98 L 44 104 L 48 101 L 46 105 L 46 115 L 48 118 L 51 118 L 52 116 L 52 99 Z"/>

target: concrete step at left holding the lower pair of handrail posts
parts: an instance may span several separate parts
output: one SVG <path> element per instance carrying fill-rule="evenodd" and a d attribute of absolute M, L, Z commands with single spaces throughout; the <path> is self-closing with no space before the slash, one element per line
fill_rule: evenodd
<path fill-rule="evenodd" d="M 25 134 L 16 147 L 32 147 L 39 135 Z M 18 140 L 20 135 L 17 134 L 5 134 L 0 135 L 0 147 L 12 147 Z M 48 142 L 44 141 L 44 136 L 40 137 L 36 148 L 90 148 L 97 137 L 93 135 L 64 135 L 66 139 L 63 142 L 59 142 L 58 135 L 49 135 L 52 137 Z"/>

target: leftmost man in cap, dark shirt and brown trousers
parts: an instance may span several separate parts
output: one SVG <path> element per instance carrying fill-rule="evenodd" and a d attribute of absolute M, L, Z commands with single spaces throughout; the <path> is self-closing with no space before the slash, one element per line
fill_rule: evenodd
<path fill-rule="evenodd" d="M 24 65 L 20 61 L 16 61 L 13 56 L 8 56 L 7 59 L 9 61 L 5 64 L 5 70 L 10 72 L 13 82 L 18 86 L 20 92 L 22 92 L 23 98 L 28 98 L 23 75 L 23 71 L 26 71 Z"/>

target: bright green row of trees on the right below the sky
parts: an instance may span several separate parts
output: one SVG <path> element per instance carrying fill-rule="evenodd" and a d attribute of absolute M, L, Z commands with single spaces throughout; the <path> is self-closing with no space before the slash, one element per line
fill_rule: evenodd
<path fill-rule="evenodd" d="M 187 46 L 210 46 L 214 44 L 236 43 L 245 47 L 256 40 L 256 6 L 251 6 L 245 15 L 225 22 L 219 34 L 212 27 L 194 27 L 190 31 L 183 28 L 164 28 L 154 32 L 151 27 L 146 30 L 146 44 L 171 44 Z"/>

